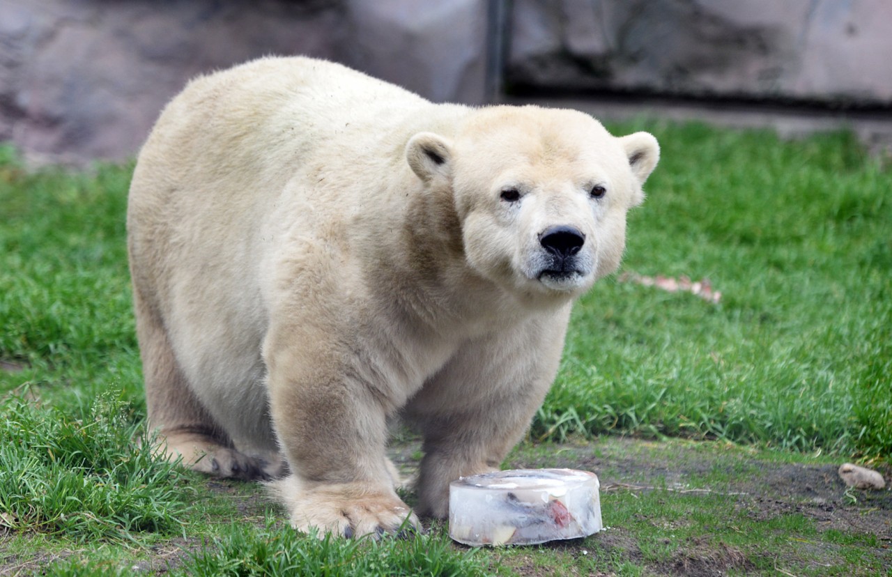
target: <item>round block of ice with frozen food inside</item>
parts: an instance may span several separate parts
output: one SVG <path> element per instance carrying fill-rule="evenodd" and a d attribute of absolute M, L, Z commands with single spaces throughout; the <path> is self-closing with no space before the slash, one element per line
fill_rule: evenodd
<path fill-rule="evenodd" d="M 466 545 L 532 545 L 599 532 L 598 476 L 516 469 L 450 483 L 449 535 Z"/>

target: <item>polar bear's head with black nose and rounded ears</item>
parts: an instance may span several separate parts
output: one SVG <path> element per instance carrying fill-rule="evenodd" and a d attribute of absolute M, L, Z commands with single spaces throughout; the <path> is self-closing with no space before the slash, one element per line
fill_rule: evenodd
<path fill-rule="evenodd" d="M 470 267 L 525 295 L 575 296 L 615 271 L 658 159 L 646 132 L 615 137 L 582 112 L 535 106 L 480 109 L 451 139 L 407 145 L 417 176 L 451 191 Z"/>

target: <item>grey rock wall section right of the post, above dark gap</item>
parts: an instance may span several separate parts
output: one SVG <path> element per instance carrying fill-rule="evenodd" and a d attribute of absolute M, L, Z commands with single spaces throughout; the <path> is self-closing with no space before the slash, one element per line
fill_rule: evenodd
<path fill-rule="evenodd" d="M 508 87 L 892 106 L 888 0 L 514 0 Z"/>

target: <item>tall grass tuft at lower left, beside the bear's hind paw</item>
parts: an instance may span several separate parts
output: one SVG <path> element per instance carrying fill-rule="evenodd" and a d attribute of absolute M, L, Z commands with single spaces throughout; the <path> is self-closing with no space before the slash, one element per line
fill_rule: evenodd
<path fill-rule="evenodd" d="M 178 466 L 135 444 L 132 408 L 113 392 L 78 418 L 10 397 L 0 406 L 0 524 L 77 540 L 182 532 Z"/>

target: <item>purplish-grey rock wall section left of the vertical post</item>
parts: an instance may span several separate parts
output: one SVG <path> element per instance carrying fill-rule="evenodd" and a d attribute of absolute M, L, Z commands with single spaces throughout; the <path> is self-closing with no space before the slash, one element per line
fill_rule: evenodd
<path fill-rule="evenodd" d="M 481 103 L 485 0 L 3 0 L 0 142 L 30 161 L 132 156 L 186 81 L 266 54 Z"/>

